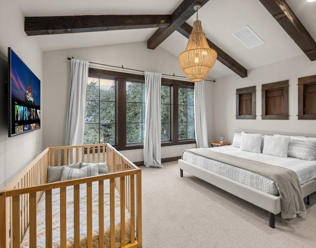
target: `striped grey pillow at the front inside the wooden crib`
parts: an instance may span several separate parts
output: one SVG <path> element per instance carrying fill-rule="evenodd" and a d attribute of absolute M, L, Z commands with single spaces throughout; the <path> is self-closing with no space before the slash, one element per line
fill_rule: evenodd
<path fill-rule="evenodd" d="M 99 175 L 99 173 L 98 173 L 98 165 L 96 164 L 85 166 L 80 169 L 63 166 L 60 180 L 65 181 L 65 180 L 72 180 L 72 179 L 78 179 L 78 178 L 88 177 L 88 176 L 97 176 L 97 175 Z"/>

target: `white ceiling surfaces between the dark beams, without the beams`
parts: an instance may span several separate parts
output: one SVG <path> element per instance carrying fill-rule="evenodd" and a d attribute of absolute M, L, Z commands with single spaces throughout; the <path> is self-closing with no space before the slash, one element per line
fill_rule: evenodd
<path fill-rule="evenodd" d="M 172 14 L 182 0 L 15 0 L 24 16 L 99 15 L 99 14 Z M 316 1 L 286 0 L 305 28 L 316 40 Z M 276 22 L 259 0 L 209 0 L 198 19 L 206 37 L 237 60 L 246 69 L 304 54 Z M 193 26 L 196 15 L 188 23 Z M 248 49 L 232 33 L 248 25 L 264 44 Z M 125 42 L 147 41 L 157 29 L 105 31 L 34 36 L 43 51 Z M 187 39 L 174 32 L 160 46 L 178 56 Z M 209 77 L 216 79 L 234 74 L 216 62 Z"/>

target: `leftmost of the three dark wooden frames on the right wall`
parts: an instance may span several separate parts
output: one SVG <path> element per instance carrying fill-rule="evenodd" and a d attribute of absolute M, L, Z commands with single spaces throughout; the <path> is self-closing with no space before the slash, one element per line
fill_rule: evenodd
<path fill-rule="evenodd" d="M 251 115 L 240 115 L 240 97 L 251 94 Z M 236 89 L 236 119 L 256 119 L 256 86 Z"/>

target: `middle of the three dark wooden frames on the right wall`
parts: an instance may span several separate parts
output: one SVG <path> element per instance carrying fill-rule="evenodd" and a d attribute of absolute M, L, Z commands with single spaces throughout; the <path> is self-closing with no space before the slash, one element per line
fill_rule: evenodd
<path fill-rule="evenodd" d="M 261 94 L 262 94 L 262 120 L 288 120 L 288 80 L 279 81 L 275 83 L 266 83 L 261 85 Z M 269 108 L 269 98 L 268 93 L 273 90 L 282 90 L 283 91 L 283 108 L 280 109 L 281 115 L 268 115 L 270 112 Z"/>

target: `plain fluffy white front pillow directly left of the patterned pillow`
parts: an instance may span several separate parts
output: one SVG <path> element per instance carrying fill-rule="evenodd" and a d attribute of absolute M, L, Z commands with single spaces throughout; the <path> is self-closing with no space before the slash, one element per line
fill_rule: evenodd
<path fill-rule="evenodd" d="M 287 148 L 289 140 L 289 136 L 266 135 L 262 153 L 287 158 Z"/>

